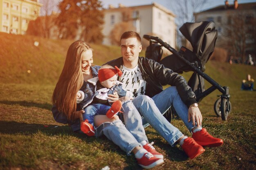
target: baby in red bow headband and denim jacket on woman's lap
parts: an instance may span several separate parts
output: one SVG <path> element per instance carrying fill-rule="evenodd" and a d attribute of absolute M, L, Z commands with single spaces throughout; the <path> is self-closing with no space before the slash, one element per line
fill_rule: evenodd
<path fill-rule="evenodd" d="M 111 105 L 111 100 L 108 99 L 109 94 L 117 92 L 119 98 L 132 98 L 132 93 L 125 91 L 121 82 L 117 81 L 117 74 L 122 75 L 117 66 L 113 68 L 110 65 L 104 65 L 99 69 L 98 77 L 88 79 L 77 92 L 76 103 L 81 110 L 85 111 L 81 118 L 85 120 L 81 123 L 81 130 L 88 136 L 94 136 L 95 115 L 106 115 L 111 119 L 121 110 L 122 102 L 117 100 Z"/>

